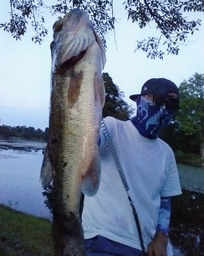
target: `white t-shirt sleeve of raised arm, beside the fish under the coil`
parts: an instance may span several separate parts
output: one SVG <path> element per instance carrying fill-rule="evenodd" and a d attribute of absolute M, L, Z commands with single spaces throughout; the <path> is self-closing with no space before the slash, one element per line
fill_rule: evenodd
<path fill-rule="evenodd" d="M 103 151 L 109 142 L 109 139 L 113 139 L 116 130 L 116 120 L 113 117 L 106 117 L 101 121 L 100 126 L 100 144 L 99 151 Z"/>

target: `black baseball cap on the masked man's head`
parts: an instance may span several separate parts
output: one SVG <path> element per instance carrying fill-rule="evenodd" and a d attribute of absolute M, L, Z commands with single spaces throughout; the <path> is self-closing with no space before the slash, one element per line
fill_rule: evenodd
<path fill-rule="evenodd" d="M 167 95 L 168 93 L 175 93 L 179 98 L 179 89 L 174 82 L 166 78 L 151 78 L 143 84 L 141 93 L 131 95 L 130 99 L 136 101 L 142 94 Z"/>

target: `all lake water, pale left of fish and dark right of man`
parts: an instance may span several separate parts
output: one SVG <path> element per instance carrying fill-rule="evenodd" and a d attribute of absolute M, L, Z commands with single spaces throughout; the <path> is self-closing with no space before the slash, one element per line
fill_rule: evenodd
<path fill-rule="evenodd" d="M 0 203 L 52 219 L 40 183 L 45 146 L 46 143 L 36 141 L 0 140 Z M 171 200 L 170 239 L 174 255 L 204 255 L 204 169 L 177 166 L 183 194 Z"/>

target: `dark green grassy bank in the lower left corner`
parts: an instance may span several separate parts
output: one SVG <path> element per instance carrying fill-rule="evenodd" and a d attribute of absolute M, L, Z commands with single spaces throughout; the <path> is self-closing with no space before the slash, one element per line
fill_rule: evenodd
<path fill-rule="evenodd" d="M 1 256 L 53 256 L 51 222 L 0 204 Z"/>

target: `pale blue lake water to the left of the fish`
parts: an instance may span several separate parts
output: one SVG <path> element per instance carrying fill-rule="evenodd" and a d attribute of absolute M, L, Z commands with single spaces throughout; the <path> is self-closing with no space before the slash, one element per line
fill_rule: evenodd
<path fill-rule="evenodd" d="M 0 141 L 0 203 L 50 218 L 40 183 L 45 146 L 41 142 Z"/>

